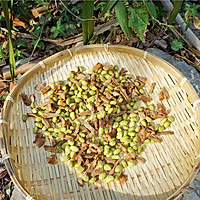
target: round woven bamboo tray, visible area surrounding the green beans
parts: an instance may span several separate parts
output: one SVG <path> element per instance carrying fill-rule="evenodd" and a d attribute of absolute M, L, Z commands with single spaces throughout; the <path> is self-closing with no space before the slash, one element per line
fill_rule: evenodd
<path fill-rule="evenodd" d="M 23 123 L 21 116 L 30 112 L 20 98 L 22 92 L 35 94 L 34 86 L 66 80 L 76 65 L 91 69 L 97 62 L 125 67 L 132 75 L 148 78 L 147 89 L 156 82 L 153 101 L 158 101 L 161 87 L 167 88 L 164 100 L 175 117 L 171 130 L 161 144 L 147 145 L 142 156 L 145 164 L 126 168 L 128 181 L 78 186 L 77 176 L 67 164 L 47 164 L 50 153 L 33 144 L 34 120 Z M 3 159 L 14 184 L 26 199 L 174 199 L 187 188 L 200 164 L 199 96 L 187 79 L 172 65 L 145 51 L 127 46 L 90 45 L 57 53 L 35 65 L 23 75 L 7 98 L 1 113 L 0 144 Z"/>

